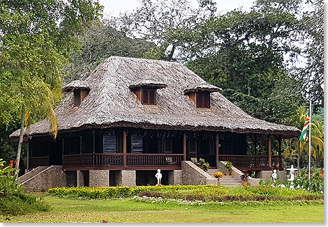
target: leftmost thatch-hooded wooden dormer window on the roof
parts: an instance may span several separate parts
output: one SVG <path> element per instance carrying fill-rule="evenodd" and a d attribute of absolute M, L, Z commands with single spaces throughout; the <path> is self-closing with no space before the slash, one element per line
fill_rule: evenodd
<path fill-rule="evenodd" d="M 89 95 L 90 87 L 87 81 L 75 80 L 63 87 L 65 92 L 73 92 L 74 107 L 80 107 L 84 98 Z"/>

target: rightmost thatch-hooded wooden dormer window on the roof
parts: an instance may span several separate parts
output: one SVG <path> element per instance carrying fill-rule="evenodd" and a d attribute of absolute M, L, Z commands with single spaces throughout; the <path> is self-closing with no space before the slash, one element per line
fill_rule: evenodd
<path fill-rule="evenodd" d="M 206 83 L 191 85 L 184 90 L 184 94 L 193 100 L 197 108 L 209 109 L 211 107 L 210 95 L 216 91 L 221 91 L 221 88 Z"/>

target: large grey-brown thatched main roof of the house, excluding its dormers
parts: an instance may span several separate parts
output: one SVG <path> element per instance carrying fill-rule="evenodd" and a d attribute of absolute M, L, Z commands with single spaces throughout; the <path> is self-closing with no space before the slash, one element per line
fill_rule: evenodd
<path fill-rule="evenodd" d="M 155 106 L 141 104 L 129 88 L 144 78 L 159 81 L 157 84 L 165 81 L 167 85 L 158 89 Z M 296 127 L 267 123 L 248 116 L 219 92 L 211 93 L 210 109 L 196 108 L 191 98 L 184 94 L 186 89 L 200 89 L 197 86 L 202 85 L 202 88 L 218 90 L 181 63 L 112 56 L 101 63 L 85 83 L 89 84 L 90 91 L 80 107 L 74 107 L 73 94 L 70 93 L 55 109 L 59 133 L 86 128 L 140 127 L 280 134 L 282 138 L 300 134 Z M 48 121 L 41 120 L 31 125 L 30 134 L 47 134 L 48 130 Z M 19 136 L 18 130 L 10 136 Z"/>

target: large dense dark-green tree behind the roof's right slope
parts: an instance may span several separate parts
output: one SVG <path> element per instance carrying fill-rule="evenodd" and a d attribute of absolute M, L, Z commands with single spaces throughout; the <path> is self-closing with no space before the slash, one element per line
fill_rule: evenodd
<path fill-rule="evenodd" d="M 197 24 L 185 35 L 188 68 L 251 116 L 290 124 L 304 102 L 301 81 L 285 68 L 284 54 L 300 53 L 291 38 L 299 24 L 290 13 L 294 4 L 258 1 L 248 13 L 234 10 Z"/>

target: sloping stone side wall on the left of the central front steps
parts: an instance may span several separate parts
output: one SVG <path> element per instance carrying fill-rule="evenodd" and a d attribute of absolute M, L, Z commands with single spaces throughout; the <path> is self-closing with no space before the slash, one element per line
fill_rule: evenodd
<path fill-rule="evenodd" d="M 191 161 L 181 163 L 183 185 L 218 185 L 218 180 L 205 173 Z"/>

